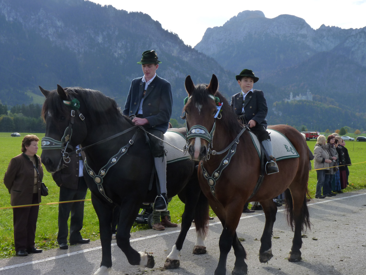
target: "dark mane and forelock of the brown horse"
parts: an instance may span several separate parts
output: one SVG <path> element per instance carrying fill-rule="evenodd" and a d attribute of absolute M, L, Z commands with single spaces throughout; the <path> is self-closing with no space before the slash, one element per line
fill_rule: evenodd
<path fill-rule="evenodd" d="M 198 84 L 195 86 L 195 89 L 192 93 L 191 104 L 195 104 L 195 106 L 204 106 L 208 104 L 209 100 L 212 100 L 209 97 L 209 91 L 207 89 L 208 84 Z M 221 107 L 221 119 L 216 120 L 217 123 L 220 123 L 224 127 L 224 131 L 229 133 L 232 136 L 236 136 L 243 125 L 238 121 L 234 111 L 231 109 L 229 102 L 225 98 L 225 96 L 221 95 L 219 91 L 215 93 L 214 96 L 217 96 L 220 99 L 220 103 L 223 103 Z M 187 105 L 186 105 L 187 106 Z M 184 110 L 186 107 L 184 107 Z"/>

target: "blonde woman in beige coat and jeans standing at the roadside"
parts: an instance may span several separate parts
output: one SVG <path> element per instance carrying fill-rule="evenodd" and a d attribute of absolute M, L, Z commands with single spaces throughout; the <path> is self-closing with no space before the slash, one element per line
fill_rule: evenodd
<path fill-rule="evenodd" d="M 324 184 L 325 172 L 329 170 L 329 163 L 332 161 L 329 159 L 328 150 L 326 150 L 326 138 L 323 135 L 318 136 L 317 143 L 314 146 L 314 169 L 320 169 L 317 171 L 317 188 L 315 191 L 315 198 L 324 199 L 321 191 Z"/>

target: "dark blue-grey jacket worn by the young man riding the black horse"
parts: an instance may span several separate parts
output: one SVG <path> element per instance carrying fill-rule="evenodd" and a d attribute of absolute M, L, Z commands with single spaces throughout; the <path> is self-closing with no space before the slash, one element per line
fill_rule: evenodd
<path fill-rule="evenodd" d="M 142 77 L 132 80 L 122 112 L 124 115 L 137 115 L 144 89 L 145 83 L 142 82 Z M 142 102 L 143 118 L 149 121 L 145 128 L 154 128 L 165 133 L 172 116 L 172 108 L 172 86 L 167 80 L 156 75 L 154 80 L 147 86 Z"/>

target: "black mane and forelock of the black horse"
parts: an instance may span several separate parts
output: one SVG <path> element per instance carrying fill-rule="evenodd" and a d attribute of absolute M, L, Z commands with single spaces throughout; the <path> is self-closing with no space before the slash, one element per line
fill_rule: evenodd
<path fill-rule="evenodd" d="M 117 102 L 105 96 L 102 92 L 81 87 L 64 88 L 66 94 L 72 94 L 75 98 L 80 99 L 81 107 L 87 108 L 89 115 L 92 115 L 91 120 L 96 123 L 115 123 L 117 119 L 125 117 L 121 113 L 121 109 Z M 48 115 L 54 122 L 57 121 L 57 114 L 67 115 L 70 112 L 70 107 L 63 103 L 57 90 L 53 90 L 47 96 L 42 107 L 42 118 Z M 85 115 L 85 114 L 84 114 Z M 129 120 L 127 120 L 129 121 Z M 132 124 L 132 122 L 131 122 Z"/>

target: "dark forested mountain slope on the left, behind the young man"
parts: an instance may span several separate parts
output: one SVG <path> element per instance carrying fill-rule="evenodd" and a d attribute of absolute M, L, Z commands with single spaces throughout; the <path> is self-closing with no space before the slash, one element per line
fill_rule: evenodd
<path fill-rule="evenodd" d="M 187 96 L 184 80 L 220 78 L 230 95 L 234 73 L 185 45 L 149 15 L 84 0 L 0 0 L 0 100 L 30 103 L 45 89 L 80 86 L 98 89 L 124 106 L 132 79 L 143 76 L 137 62 L 155 49 L 157 74 L 172 84 L 173 118 Z"/>

